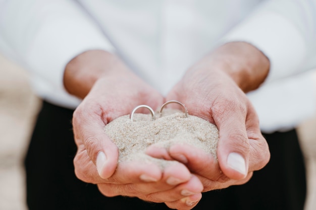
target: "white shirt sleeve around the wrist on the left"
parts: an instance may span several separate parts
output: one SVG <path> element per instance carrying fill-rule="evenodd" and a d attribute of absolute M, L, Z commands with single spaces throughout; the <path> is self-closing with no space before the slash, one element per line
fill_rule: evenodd
<path fill-rule="evenodd" d="M 65 96 L 64 69 L 72 58 L 91 49 L 115 51 L 72 0 L 0 0 L 0 49 Z"/>

